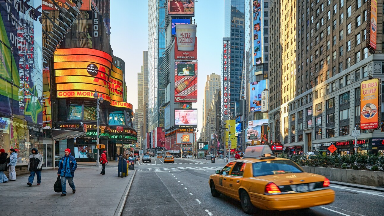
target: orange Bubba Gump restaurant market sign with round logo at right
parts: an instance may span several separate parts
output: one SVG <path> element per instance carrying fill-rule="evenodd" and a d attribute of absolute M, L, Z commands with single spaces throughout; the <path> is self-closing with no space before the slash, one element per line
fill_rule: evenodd
<path fill-rule="evenodd" d="M 362 81 L 360 89 L 360 129 L 378 129 L 381 122 L 381 80 L 375 78 Z"/>

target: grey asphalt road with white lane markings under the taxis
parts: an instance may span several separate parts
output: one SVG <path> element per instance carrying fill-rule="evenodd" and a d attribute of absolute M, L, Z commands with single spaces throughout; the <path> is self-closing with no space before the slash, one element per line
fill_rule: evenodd
<path fill-rule="evenodd" d="M 141 163 L 141 162 L 140 162 Z M 152 158 L 151 163 L 136 165 L 136 176 L 127 198 L 123 216 L 241 216 L 240 202 L 221 195 L 211 195 L 208 179 L 223 164 Z M 254 215 L 311 216 L 381 216 L 384 193 L 331 185 L 334 203 L 293 211 L 258 210 Z"/>

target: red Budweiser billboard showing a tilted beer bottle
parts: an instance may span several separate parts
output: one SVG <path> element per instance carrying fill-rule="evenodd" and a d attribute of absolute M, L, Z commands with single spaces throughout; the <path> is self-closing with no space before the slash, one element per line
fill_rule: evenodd
<path fill-rule="evenodd" d="M 175 102 L 197 102 L 197 62 L 175 62 Z"/>

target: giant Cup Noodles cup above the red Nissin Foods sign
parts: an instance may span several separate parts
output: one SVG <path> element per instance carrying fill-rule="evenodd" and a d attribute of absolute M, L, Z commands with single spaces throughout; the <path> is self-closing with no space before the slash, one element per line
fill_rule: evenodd
<path fill-rule="evenodd" d="M 194 51 L 197 25 L 179 24 L 175 26 L 179 51 Z"/>

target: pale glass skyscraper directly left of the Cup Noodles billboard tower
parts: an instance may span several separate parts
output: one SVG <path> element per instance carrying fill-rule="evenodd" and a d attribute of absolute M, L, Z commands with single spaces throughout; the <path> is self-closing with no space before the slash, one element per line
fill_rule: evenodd
<path fill-rule="evenodd" d="M 160 65 L 165 49 L 164 28 L 166 0 L 148 1 L 148 131 L 164 126 L 164 117 L 160 114 L 164 109 L 165 89 L 162 87 Z"/>

